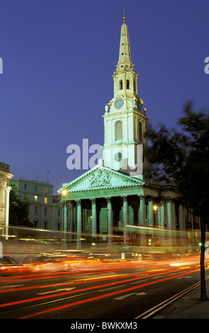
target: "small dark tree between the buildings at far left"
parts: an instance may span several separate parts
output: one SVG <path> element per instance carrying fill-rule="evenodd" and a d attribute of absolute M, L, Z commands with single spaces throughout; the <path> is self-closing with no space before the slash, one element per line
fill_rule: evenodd
<path fill-rule="evenodd" d="M 30 202 L 25 196 L 23 200 L 18 196 L 18 189 L 15 183 L 11 182 L 11 192 L 9 196 L 9 223 L 11 225 L 21 225 L 32 227 L 29 221 Z"/>

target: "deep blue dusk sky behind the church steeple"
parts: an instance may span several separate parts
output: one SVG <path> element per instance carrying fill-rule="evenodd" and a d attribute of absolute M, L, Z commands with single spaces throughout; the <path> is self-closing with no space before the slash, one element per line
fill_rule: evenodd
<path fill-rule="evenodd" d="M 150 123 L 209 109 L 208 0 L 0 0 L 0 160 L 16 177 L 61 184 L 68 145 L 104 143 L 125 5 L 138 95 Z"/>

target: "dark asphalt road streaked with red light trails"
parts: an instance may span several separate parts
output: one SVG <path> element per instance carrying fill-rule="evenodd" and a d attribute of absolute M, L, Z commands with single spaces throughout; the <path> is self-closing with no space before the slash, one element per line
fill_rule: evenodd
<path fill-rule="evenodd" d="M 0 319 L 151 318 L 199 281 L 198 257 L 13 273 L 0 276 Z"/>

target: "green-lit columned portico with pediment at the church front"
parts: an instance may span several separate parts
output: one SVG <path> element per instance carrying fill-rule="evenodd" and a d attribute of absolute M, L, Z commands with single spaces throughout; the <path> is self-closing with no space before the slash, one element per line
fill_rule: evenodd
<path fill-rule="evenodd" d="M 92 242 L 109 247 L 147 245 L 152 227 L 175 229 L 180 216 L 173 202 L 174 186 L 170 184 L 166 200 L 160 196 L 163 187 L 104 166 L 63 184 L 59 192 L 67 191 L 65 201 L 72 208 L 70 238 L 78 248 Z"/>

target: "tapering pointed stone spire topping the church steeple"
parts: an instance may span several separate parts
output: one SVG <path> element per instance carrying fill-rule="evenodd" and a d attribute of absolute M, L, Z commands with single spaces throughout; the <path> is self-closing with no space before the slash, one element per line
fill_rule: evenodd
<path fill-rule="evenodd" d="M 124 9 L 124 23 L 121 26 L 121 39 L 119 48 L 119 61 L 117 63 L 117 71 L 132 70 L 133 64 L 131 61 L 131 50 L 129 44 L 129 32 L 126 25 L 125 9 Z"/>

